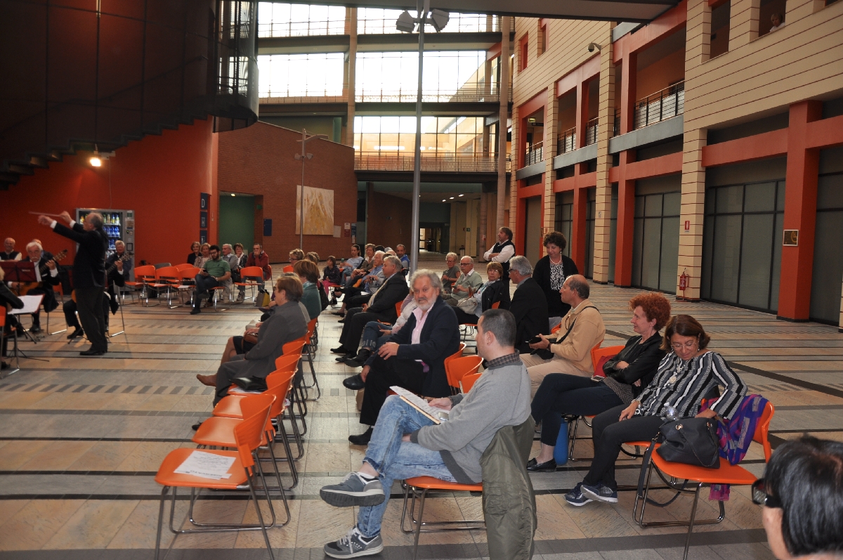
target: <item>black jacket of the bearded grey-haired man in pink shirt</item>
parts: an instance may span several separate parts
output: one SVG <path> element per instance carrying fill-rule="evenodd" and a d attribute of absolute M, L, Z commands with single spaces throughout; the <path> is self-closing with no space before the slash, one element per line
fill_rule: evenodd
<path fill-rule="evenodd" d="M 451 396 L 448 376 L 445 374 L 445 358 L 459 350 L 457 315 L 454 315 L 454 310 L 441 297 L 433 302 L 427 314 L 418 344 L 410 343 L 413 329 L 416 328 L 415 313 L 410 315 L 410 319 L 400 331 L 392 335 L 389 342 L 400 344 L 396 358 L 423 360 L 427 363 L 430 371 L 421 385 L 422 395 Z"/>

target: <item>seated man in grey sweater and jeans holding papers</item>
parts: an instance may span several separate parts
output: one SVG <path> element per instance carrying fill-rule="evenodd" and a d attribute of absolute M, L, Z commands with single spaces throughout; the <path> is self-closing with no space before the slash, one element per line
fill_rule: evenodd
<path fill-rule="evenodd" d="M 487 310 L 477 324 L 477 353 L 488 369 L 470 393 L 430 401 L 448 411 L 448 420 L 433 423 L 398 396 L 381 408 L 359 471 L 319 495 L 338 507 L 358 506 L 357 525 L 325 554 L 349 558 L 377 554 L 389 492 L 395 480 L 436 477 L 446 482 L 481 482 L 480 459 L 495 433 L 517 426 L 529 416 L 529 376 L 515 352 L 515 317 L 507 310 Z"/>

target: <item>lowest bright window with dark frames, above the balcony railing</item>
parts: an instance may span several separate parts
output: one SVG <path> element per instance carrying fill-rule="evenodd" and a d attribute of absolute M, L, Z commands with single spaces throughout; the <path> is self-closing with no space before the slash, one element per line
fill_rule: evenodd
<path fill-rule="evenodd" d="M 483 151 L 483 117 L 422 116 L 421 154 L 474 155 Z M 412 156 L 415 116 L 355 116 L 354 149 L 362 153 Z"/>

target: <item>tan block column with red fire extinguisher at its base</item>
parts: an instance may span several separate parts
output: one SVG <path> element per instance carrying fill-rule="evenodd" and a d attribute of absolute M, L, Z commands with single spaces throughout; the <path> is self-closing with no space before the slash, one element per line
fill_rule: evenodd
<path fill-rule="evenodd" d="M 676 268 L 676 293 L 683 272 L 690 278 L 685 298 L 700 299 L 702 276 L 702 226 L 706 212 L 706 168 L 702 166 L 702 148 L 706 129 L 685 131 L 682 155 L 682 210 L 679 217 L 679 266 Z M 685 222 L 689 223 L 685 230 Z"/>

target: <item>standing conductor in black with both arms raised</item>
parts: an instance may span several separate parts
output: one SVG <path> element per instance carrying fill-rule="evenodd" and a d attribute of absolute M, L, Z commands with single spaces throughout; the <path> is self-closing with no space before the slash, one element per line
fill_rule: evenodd
<path fill-rule="evenodd" d="M 82 328 L 91 342 L 91 347 L 79 354 L 102 356 L 108 352 L 105 318 L 102 312 L 105 251 L 108 249 L 108 237 L 103 231 L 103 217 L 92 212 L 85 217 L 84 223 L 77 223 L 69 213 L 62 212 L 59 218 L 70 227 L 65 227 L 46 216 L 39 216 L 38 223 L 51 227 L 56 234 L 79 244 L 73 259 L 73 289 L 76 290 L 79 320 L 82 321 Z"/>

